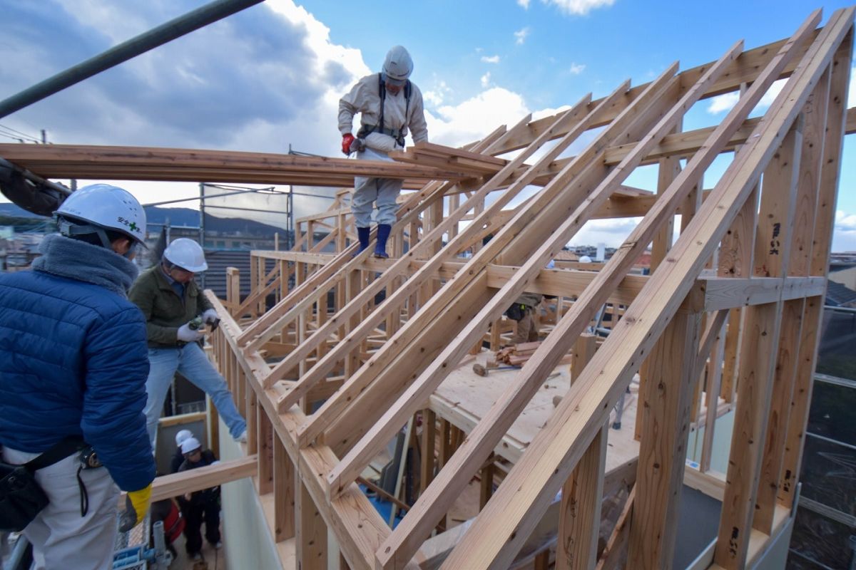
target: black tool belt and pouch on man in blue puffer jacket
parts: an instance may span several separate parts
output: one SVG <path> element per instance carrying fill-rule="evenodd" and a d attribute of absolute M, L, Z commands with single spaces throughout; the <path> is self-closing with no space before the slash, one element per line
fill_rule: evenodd
<path fill-rule="evenodd" d="M 50 467 L 86 447 L 79 436 L 68 436 L 23 465 L 0 461 L 0 531 L 21 532 L 48 505 L 36 481 L 39 469 Z"/>

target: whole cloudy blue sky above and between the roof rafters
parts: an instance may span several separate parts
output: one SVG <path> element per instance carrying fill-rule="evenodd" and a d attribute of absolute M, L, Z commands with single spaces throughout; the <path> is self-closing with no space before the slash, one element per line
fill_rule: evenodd
<path fill-rule="evenodd" d="M 204 3 L 0 0 L 0 97 Z M 644 83 L 675 60 L 681 69 L 715 60 L 740 38 L 747 49 L 785 38 L 812 9 L 823 8 L 826 21 L 846 5 L 267 0 L 0 119 L 0 126 L 31 136 L 44 128 L 55 143 L 270 152 L 291 144 L 336 156 L 338 97 L 377 71 L 389 46 L 402 44 L 415 61 L 431 139 L 463 144 L 526 113 L 553 113 L 589 91 L 602 97 L 624 79 Z M 685 128 L 718 122 L 727 103 L 700 103 Z M 9 131 L 0 128 L 0 140 L 9 140 L 3 133 Z M 856 250 L 854 148 L 847 143 L 835 250 Z M 629 183 L 647 187 L 652 179 L 649 171 Z M 197 192 L 195 185 L 126 186 L 144 202 Z M 574 242 L 618 244 L 628 227 L 603 222 Z"/>

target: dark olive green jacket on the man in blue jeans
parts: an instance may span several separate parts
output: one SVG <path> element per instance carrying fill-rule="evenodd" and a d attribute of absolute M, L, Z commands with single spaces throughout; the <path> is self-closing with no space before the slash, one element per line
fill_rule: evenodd
<path fill-rule="evenodd" d="M 169 285 L 160 263 L 140 275 L 128 291 L 128 298 L 140 307 L 146 317 L 146 334 L 151 349 L 179 346 L 179 327 L 211 309 L 211 303 L 195 281 L 184 286 L 182 303 L 181 297 Z"/>

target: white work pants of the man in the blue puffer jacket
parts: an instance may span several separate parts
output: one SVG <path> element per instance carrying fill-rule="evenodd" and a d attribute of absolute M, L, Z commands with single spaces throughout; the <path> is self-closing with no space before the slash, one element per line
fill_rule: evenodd
<path fill-rule="evenodd" d="M 3 448 L 3 461 L 13 465 L 38 455 Z M 81 471 L 89 497 L 89 510 L 81 517 L 78 455 L 74 453 L 36 472 L 36 480 L 51 501 L 24 529 L 24 536 L 33 544 L 36 570 L 113 566 L 119 488 L 105 467 Z"/>

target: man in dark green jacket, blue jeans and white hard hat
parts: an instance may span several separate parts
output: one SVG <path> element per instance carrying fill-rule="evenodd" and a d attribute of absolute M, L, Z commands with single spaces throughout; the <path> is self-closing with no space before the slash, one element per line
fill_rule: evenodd
<path fill-rule="evenodd" d="M 205 338 L 205 324 L 219 322 L 217 311 L 193 280 L 196 273 L 206 269 L 205 253 L 199 244 L 178 238 L 163 251 L 161 262 L 143 272 L 128 293 L 146 320 L 151 365 L 146 380 L 146 426 L 152 449 L 176 371 L 211 397 L 235 440 L 247 440 L 247 422 L 235 408 L 226 380 L 199 345 Z"/>

